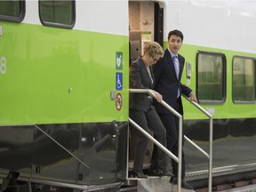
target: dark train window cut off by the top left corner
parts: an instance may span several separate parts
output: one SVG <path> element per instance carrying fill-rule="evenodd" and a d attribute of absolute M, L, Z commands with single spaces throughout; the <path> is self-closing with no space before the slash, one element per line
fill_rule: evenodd
<path fill-rule="evenodd" d="M 0 1 L 0 20 L 21 22 L 25 16 L 25 1 Z"/>

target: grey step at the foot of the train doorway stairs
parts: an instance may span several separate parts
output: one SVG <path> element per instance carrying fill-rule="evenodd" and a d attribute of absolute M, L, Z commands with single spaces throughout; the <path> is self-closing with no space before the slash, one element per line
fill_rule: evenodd
<path fill-rule="evenodd" d="M 132 179 L 133 180 L 133 179 Z M 135 180 L 135 179 L 134 179 Z M 172 185 L 170 177 L 148 177 L 148 179 L 137 179 L 137 191 L 140 192 L 178 192 L 178 186 Z M 180 192 L 192 192 L 181 188 Z"/>

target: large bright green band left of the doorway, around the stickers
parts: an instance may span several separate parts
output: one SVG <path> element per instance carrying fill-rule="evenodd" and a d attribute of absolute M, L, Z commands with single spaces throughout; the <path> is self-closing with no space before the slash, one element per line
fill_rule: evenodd
<path fill-rule="evenodd" d="M 0 23 L 0 124 L 128 119 L 129 37 L 32 24 Z M 123 52 L 123 69 L 116 69 Z M 116 72 L 123 105 L 116 109 Z"/>

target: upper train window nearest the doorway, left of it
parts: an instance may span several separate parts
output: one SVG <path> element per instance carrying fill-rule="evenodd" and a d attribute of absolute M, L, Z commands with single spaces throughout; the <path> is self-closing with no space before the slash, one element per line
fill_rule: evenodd
<path fill-rule="evenodd" d="M 44 26 L 73 28 L 76 20 L 75 0 L 39 0 L 39 15 Z"/>

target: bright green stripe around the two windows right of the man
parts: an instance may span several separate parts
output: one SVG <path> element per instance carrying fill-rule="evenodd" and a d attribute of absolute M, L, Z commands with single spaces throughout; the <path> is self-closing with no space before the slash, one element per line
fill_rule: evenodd
<path fill-rule="evenodd" d="M 164 42 L 164 47 L 167 47 L 167 42 Z M 209 112 L 213 112 L 214 119 L 226 119 L 226 118 L 255 118 L 256 110 L 255 103 L 234 103 L 232 100 L 232 59 L 235 55 L 255 58 L 255 53 L 250 52 L 236 52 L 233 50 L 224 50 L 217 48 L 210 48 L 204 46 L 197 46 L 192 44 L 183 44 L 180 49 L 180 54 L 186 59 L 186 62 L 192 64 L 192 76 L 191 82 L 188 85 L 186 82 L 186 67 L 183 69 L 182 84 L 186 84 L 194 92 L 196 92 L 196 52 L 221 52 L 226 55 L 227 59 L 227 92 L 226 100 L 222 104 L 200 104 L 204 109 Z M 202 114 L 197 108 L 191 106 L 191 104 L 183 99 L 184 106 L 184 118 L 185 119 L 207 119 L 208 117 Z"/>

